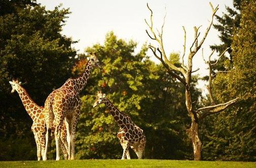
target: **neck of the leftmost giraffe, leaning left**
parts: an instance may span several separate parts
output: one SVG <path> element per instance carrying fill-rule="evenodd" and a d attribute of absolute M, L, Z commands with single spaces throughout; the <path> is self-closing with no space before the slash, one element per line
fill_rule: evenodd
<path fill-rule="evenodd" d="M 36 112 L 39 112 L 41 107 L 39 107 L 36 103 L 34 103 L 34 101 L 30 98 L 30 96 L 28 95 L 28 93 L 23 87 L 18 86 L 17 92 L 20 96 L 22 104 L 24 105 L 28 115 L 32 118 L 32 120 L 34 120 L 36 117 Z"/>

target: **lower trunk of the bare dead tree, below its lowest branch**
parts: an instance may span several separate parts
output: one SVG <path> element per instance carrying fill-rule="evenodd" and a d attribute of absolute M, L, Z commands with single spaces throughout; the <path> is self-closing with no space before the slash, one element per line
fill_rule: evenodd
<path fill-rule="evenodd" d="M 198 127 L 199 127 L 199 123 L 193 119 L 191 123 L 191 128 L 190 128 L 190 136 L 191 136 L 191 141 L 193 146 L 194 160 L 201 160 L 202 143 L 198 135 L 199 133 Z"/>

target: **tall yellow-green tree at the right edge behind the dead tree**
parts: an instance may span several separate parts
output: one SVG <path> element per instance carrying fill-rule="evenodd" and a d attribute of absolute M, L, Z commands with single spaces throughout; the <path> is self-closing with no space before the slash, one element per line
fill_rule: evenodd
<path fill-rule="evenodd" d="M 218 101 L 240 97 L 235 108 L 211 118 L 206 123 L 206 159 L 256 160 L 256 2 L 241 4 L 240 28 L 232 39 L 233 68 L 231 73 L 218 74 L 214 94 Z M 213 157 L 212 157 L 213 156 Z"/>

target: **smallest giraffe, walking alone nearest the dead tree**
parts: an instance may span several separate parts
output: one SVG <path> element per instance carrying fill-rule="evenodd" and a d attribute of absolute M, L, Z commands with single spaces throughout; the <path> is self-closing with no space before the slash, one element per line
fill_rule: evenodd
<path fill-rule="evenodd" d="M 119 132 L 117 137 L 120 141 L 121 146 L 123 147 L 123 156 L 122 159 L 130 159 L 129 147 L 131 147 L 138 159 L 142 158 L 146 137 L 143 133 L 143 130 L 140 129 L 130 118 L 129 115 L 119 111 L 111 101 L 109 101 L 105 94 L 102 94 L 101 91 L 97 92 L 96 101 L 93 104 L 93 107 L 96 107 L 98 104 L 104 103 L 109 109 L 109 112 L 114 117 L 115 121 L 119 125 Z"/>

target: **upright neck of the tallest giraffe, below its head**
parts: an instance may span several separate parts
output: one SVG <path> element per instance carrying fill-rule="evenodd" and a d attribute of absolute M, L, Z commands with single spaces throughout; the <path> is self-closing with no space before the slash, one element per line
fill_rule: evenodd
<path fill-rule="evenodd" d="M 74 89 L 77 91 L 77 93 L 80 93 L 86 86 L 86 83 L 89 79 L 90 73 L 92 70 L 92 63 L 89 60 L 86 64 L 84 72 L 78 76 L 77 78 L 72 78 L 74 80 Z"/>

